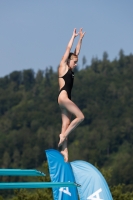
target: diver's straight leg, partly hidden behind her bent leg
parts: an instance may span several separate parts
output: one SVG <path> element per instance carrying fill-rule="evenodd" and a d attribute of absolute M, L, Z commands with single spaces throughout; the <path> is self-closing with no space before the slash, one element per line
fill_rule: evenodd
<path fill-rule="evenodd" d="M 66 110 L 61 108 L 61 117 L 62 117 L 62 130 L 61 134 L 63 134 L 68 128 L 71 120 L 71 114 Z M 68 149 L 67 149 L 67 138 L 64 140 L 62 144 L 61 154 L 64 156 L 64 161 L 68 162 Z"/>

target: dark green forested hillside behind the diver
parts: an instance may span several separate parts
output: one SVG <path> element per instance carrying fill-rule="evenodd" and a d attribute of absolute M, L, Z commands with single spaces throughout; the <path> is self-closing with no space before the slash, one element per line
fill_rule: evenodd
<path fill-rule="evenodd" d="M 69 136 L 69 161 L 84 160 L 104 175 L 114 200 L 133 200 L 133 55 L 108 53 L 75 69 L 72 100 L 85 120 Z M 61 114 L 58 74 L 13 71 L 0 78 L 0 168 L 39 169 L 50 181 L 46 149 L 57 149 Z M 1 182 L 23 178 L 0 177 Z M 27 180 L 27 179 L 25 179 Z M 0 200 L 52 200 L 51 189 L 0 191 Z"/>

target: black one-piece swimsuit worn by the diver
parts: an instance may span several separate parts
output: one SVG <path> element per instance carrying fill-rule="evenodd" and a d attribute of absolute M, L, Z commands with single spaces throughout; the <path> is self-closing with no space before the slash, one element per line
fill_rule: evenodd
<path fill-rule="evenodd" d="M 71 99 L 71 90 L 73 87 L 74 72 L 71 69 L 68 69 L 67 73 L 59 78 L 63 78 L 65 81 L 65 85 L 60 89 L 59 94 L 61 93 L 62 90 L 65 90 L 67 92 L 68 98 Z"/>

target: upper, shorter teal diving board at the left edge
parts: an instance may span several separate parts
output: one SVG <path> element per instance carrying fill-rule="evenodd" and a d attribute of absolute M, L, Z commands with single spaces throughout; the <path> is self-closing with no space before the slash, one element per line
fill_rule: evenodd
<path fill-rule="evenodd" d="M 45 174 L 33 169 L 0 169 L 0 176 L 45 176 Z"/>

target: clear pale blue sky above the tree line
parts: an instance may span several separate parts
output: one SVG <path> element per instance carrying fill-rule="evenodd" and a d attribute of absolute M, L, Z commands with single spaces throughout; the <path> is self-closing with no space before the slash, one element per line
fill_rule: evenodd
<path fill-rule="evenodd" d="M 85 31 L 78 65 L 133 53 L 133 0 L 0 0 L 0 77 L 13 71 L 54 71 L 74 28 Z M 78 37 L 75 38 L 74 51 Z"/>

